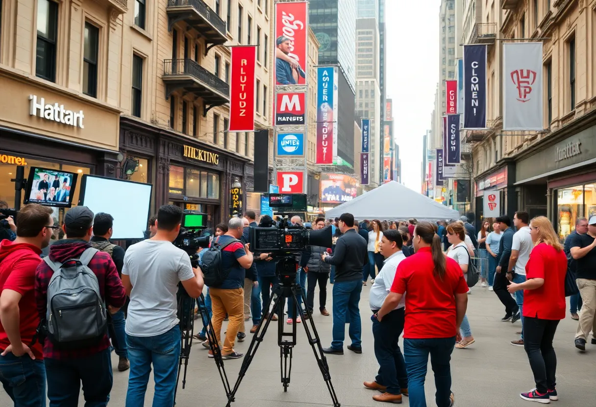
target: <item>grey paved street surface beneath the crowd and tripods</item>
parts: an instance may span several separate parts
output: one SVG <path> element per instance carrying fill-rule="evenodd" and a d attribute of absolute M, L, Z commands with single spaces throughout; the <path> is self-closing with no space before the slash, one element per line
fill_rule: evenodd
<path fill-rule="evenodd" d="M 329 290 L 331 286 L 329 286 Z M 362 345 L 364 352 L 356 355 L 347 352 L 343 356 L 327 357 L 331 378 L 342 406 L 378 406 L 372 400 L 373 392 L 364 389 L 362 382 L 372 380 L 377 370 L 373 353 L 373 335 L 371 333 L 370 311 L 368 308 L 368 287 L 364 287 L 360 309 L 362 314 Z M 315 297 L 315 302 L 316 302 Z M 331 305 L 327 309 L 331 311 Z M 510 340 L 517 339 L 516 331 L 520 323 L 503 323 L 502 305 L 496 295 L 487 289 L 474 287 L 468 303 L 468 318 L 476 343 L 469 349 L 454 350 L 452 356 L 452 390 L 456 405 L 460 407 L 517 407 L 529 405 L 520 399 L 519 393 L 534 387 L 532 371 L 522 347 L 510 345 Z M 315 315 L 324 346 L 331 342 L 331 317 Z M 247 323 L 247 330 L 250 329 Z M 567 318 L 561 321 L 555 336 L 555 350 L 558 358 L 557 390 L 560 401 L 552 404 L 557 407 L 594 407 L 596 406 L 596 345 L 587 345 L 588 352 L 581 354 L 573 346 L 576 321 Z M 291 384 L 287 393 L 280 383 L 279 348 L 276 346 L 277 325 L 271 325 L 265 340 L 260 346 L 247 376 L 237 393 L 235 407 L 310 407 L 331 405 L 325 383 L 313 358 L 312 349 L 306 342 L 302 327 L 299 331 L 299 345 L 294 351 Z M 347 337 L 347 328 L 346 328 Z M 248 338 L 247 338 L 248 339 Z M 195 342 L 196 343 L 196 342 Z M 346 343 L 347 345 L 348 343 Z M 238 352 L 245 352 L 249 342 L 240 343 Z M 113 355 L 113 365 L 117 357 Z M 225 361 L 225 368 L 231 381 L 237 378 L 241 361 Z M 426 394 L 427 403 L 434 404 L 434 381 L 429 367 Z M 114 368 L 114 388 L 110 406 L 125 405 L 128 373 L 118 372 Z M 145 406 L 151 406 L 153 384 L 147 390 Z M 290 404 L 291 403 L 291 404 Z M 179 389 L 178 406 L 223 407 L 226 398 L 222 383 L 212 359 L 207 358 L 207 350 L 201 346 L 193 347 L 188 367 L 186 389 Z M 404 405 L 408 404 L 407 397 Z M 4 392 L 0 391 L 0 406 L 11 405 Z M 84 402 L 79 403 L 83 406 Z M 141 407 L 141 406 L 139 406 Z M 156 406 L 158 407 L 158 406 Z"/>

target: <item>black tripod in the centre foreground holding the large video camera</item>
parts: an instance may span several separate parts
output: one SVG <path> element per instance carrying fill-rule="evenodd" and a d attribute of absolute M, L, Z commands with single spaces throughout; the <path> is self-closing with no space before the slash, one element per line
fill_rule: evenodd
<path fill-rule="evenodd" d="M 292 368 L 292 349 L 294 346 L 296 346 L 296 318 L 294 318 L 292 323 L 292 331 L 284 332 L 284 303 L 285 299 L 290 298 L 294 299 L 294 315 L 300 315 L 300 318 L 302 318 L 304 321 L 303 326 L 306 331 L 306 336 L 308 337 L 308 342 L 312 346 L 312 351 L 315 354 L 315 359 L 317 365 L 319 366 L 319 370 L 321 370 L 321 374 L 323 375 L 323 380 L 325 380 L 325 383 L 327 384 L 327 390 L 329 390 L 329 394 L 331 395 L 333 406 L 340 407 L 335 389 L 333 389 L 333 383 L 331 383 L 329 366 L 327 364 L 325 354 L 323 353 L 321 339 L 319 338 L 319 334 L 316 332 L 315 323 L 312 320 L 311 311 L 307 306 L 305 307 L 305 314 L 305 311 L 298 306 L 297 298 L 302 297 L 302 300 L 305 304 L 306 298 L 302 292 L 302 287 L 300 287 L 299 284 L 296 284 L 296 259 L 293 257 L 281 259 L 277 264 L 276 273 L 280 277 L 281 283 L 274 287 L 272 299 L 269 300 L 267 306 L 263 308 L 263 315 L 268 315 L 268 317 L 266 319 L 261 318 L 261 321 L 254 333 L 253 339 L 250 341 L 249 349 L 246 352 L 246 356 L 244 356 L 242 366 L 240 367 L 240 372 L 238 373 L 238 380 L 236 381 L 234 389 L 228 397 L 228 404 L 226 407 L 230 407 L 231 403 L 235 401 L 234 396 L 238 390 L 238 387 L 240 387 L 240 382 L 244 378 L 244 375 L 246 375 L 246 371 L 249 369 L 250 362 L 253 361 L 255 353 L 257 349 L 259 349 L 260 343 L 263 342 L 263 338 L 265 337 L 269 323 L 271 323 L 273 318 L 274 310 L 278 310 L 278 314 L 280 315 L 278 318 L 277 345 L 280 346 L 281 383 L 284 386 L 284 392 L 288 391 Z M 272 309 L 269 309 L 271 302 L 273 302 L 273 307 Z M 298 314 L 296 314 L 296 310 Z M 309 324 L 311 325 L 310 327 Z M 287 337 L 291 339 L 285 339 Z"/>

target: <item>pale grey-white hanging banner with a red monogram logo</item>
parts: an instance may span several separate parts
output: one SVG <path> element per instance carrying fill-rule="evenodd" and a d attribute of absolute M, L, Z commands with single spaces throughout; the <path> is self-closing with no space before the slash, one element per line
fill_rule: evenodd
<path fill-rule="evenodd" d="M 544 130 L 542 42 L 503 44 L 503 130 Z"/>

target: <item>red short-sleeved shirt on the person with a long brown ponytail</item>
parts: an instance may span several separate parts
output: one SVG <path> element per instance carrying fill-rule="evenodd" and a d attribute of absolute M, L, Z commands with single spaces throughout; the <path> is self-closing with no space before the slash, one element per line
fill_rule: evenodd
<path fill-rule="evenodd" d="M 450 338 L 457 334 L 455 294 L 467 293 L 468 285 L 454 259 L 447 258 L 446 268 L 440 280 L 433 271 L 430 248 L 420 248 L 399 263 L 391 291 L 407 292 L 403 337 Z"/>

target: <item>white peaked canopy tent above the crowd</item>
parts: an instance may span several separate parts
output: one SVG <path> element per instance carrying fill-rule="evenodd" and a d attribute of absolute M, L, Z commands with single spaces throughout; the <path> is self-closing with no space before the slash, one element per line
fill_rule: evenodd
<path fill-rule="evenodd" d="M 352 201 L 325 212 L 325 217 L 336 218 L 344 212 L 354 215 L 356 220 L 453 220 L 460 218 L 460 212 L 449 209 L 439 202 L 415 192 L 395 181 L 390 181 Z"/>

